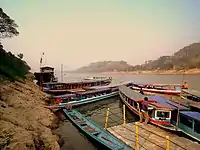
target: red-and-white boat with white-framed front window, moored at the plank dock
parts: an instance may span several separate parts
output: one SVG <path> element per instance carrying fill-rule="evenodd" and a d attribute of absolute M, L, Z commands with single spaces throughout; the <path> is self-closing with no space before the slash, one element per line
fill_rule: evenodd
<path fill-rule="evenodd" d="M 126 86 L 119 87 L 119 95 L 123 103 L 136 115 L 139 115 L 144 97 L 147 97 L 149 122 L 170 131 L 179 131 L 176 126 L 171 124 L 171 121 L 177 122 L 178 110 L 189 110 L 189 108 L 164 97 L 145 96 Z"/>

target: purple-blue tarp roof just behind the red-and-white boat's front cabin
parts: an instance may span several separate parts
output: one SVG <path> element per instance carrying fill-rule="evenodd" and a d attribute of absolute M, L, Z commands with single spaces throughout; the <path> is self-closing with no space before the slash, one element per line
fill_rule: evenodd
<path fill-rule="evenodd" d="M 179 107 L 180 110 L 189 110 L 189 108 L 183 106 L 183 105 L 179 105 L 176 102 L 173 102 L 169 99 L 166 99 L 164 97 L 161 96 L 148 96 L 149 99 L 153 99 L 155 100 L 157 103 L 164 105 L 166 107 L 172 108 L 172 109 L 177 109 Z"/>

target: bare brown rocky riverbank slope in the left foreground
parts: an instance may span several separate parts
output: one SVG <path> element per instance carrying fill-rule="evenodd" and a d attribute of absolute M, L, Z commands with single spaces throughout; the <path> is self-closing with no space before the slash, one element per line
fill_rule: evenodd
<path fill-rule="evenodd" d="M 32 81 L 0 82 L 0 149 L 59 150 L 56 116 L 43 106 L 49 100 Z"/>

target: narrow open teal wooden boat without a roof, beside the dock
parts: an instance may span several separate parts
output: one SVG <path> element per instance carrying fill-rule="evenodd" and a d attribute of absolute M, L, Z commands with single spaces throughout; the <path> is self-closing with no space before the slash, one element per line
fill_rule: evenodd
<path fill-rule="evenodd" d="M 63 109 L 63 112 L 79 130 L 91 139 L 100 143 L 103 147 L 112 150 L 131 150 L 128 145 L 121 142 L 94 122 L 88 120 L 78 111 Z"/>

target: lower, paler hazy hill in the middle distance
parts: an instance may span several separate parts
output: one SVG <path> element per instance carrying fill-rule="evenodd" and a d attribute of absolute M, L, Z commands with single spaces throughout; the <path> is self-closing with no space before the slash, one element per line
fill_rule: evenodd
<path fill-rule="evenodd" d="M 90 63 L 88 66 L 81 67 L 75 72 L 112 72 L 112 71 L 127 71 L 132 66 L 125 61 L 101 61 Z"/>

